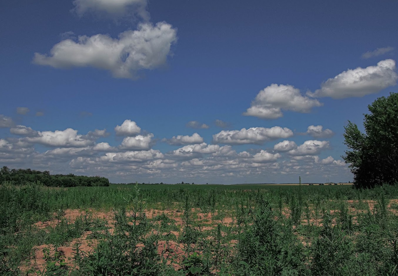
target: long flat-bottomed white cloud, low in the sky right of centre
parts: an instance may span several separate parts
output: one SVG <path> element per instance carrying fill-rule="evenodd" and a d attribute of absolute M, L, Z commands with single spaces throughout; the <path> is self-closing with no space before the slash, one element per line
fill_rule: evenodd
<path fill-rule="evenodd" d="M 262 144 L 266 141 L 293 136 L 289 128 L 273 126 L 271 128 L 254 127 L 241 130 L 222 130 L 213 135 L 213 142 L 218 144 Z"/>

